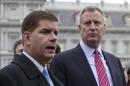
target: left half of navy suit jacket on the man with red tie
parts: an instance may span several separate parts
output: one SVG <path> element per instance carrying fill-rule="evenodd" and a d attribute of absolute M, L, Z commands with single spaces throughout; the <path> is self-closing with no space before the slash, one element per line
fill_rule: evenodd
<path fill-rule="evenodd" d="M 97 86 L 80 45 L 56 55 L 51 70 L 65 86 Z"/>

